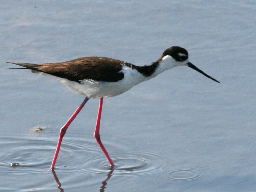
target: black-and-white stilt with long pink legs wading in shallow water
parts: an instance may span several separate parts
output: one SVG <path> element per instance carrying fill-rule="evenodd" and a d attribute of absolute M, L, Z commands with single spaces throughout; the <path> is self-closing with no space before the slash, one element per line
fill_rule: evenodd
<path fill-rule="evenodd" d="M 133 86 L 154 78 L 163 71 L 177 66 L 191 67 L 206 77 L 220 83 L 190 63 L 188 60 L 188 51 L 178 46 L 166 49 L 156 62 L 145 66 L 136 66 L 131 63 L 106 57 L 79 57 L 71 61 L 45 64 L 7 63 L 25 67 L 19 69 L 30 69 L 34 73 L 52 77 L 66 85 L 70 91 L 85 95 L 82 104 L 76 109 L 68 122 L 60 129 L 60 136 L 52 160 L 51 169 L 54 168 L 61 141 L 68 126 L 90 98 L 100 98 L 94 137 L 106 155 L 110 165 L 114 166 L 113 161 L 100 140 L 100 117 L 103 97 L 113 97 L 122 94 Z"/>

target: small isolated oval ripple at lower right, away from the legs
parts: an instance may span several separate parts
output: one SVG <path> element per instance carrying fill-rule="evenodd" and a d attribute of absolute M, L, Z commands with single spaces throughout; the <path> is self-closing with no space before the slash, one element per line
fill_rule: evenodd
<path fill-rule="evenodd" d="M 209 170 L 204 168 L 178 169 L 168 171 L 165 178 L 172 181 L 190 181 L 205 177 L 208 175 L 207 171 Z"/>

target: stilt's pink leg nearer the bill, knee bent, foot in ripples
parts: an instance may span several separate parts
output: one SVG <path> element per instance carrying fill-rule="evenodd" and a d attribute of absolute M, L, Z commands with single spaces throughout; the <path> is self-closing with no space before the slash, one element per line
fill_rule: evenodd
<path fill-rule="evenodd" d="M 102 111 L 102 103 L 103 103 L 103 97 L 100 98 L 99 111 L 98 111 L 98 115 L 97 115 L 96 128 L 95 128 L 95 132 L 94 132 L 94 138 L 96 139 L 96 141 L 100 145 L 100 148 L 102 149 L 102 151 L 106 155 L 110 165 L 111 166 L 115 166 L 113 161 L 109 157 L 107 150 L 105 149 L 104 145 L 102 144 L 102 142 L 100 140 L 100 117 L 101 117 L 101 111 Z"/>

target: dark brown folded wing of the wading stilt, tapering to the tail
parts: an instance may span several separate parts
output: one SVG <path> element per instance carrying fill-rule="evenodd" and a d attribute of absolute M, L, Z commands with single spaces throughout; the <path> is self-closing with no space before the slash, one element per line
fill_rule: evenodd
<path fill-rule="evenodd" d="M 121 63 L 124 65 L 132 65 L 130 63 L 106 57 L 79 57 L 66 62 L 45 64 L 8 63 L 13 63 L 31 69 L 32 71 L 41 71 L 76 82 L 83 79 L 116 82 L 124 78 L 124 74 L 120 72 L 122 69 Z"/>

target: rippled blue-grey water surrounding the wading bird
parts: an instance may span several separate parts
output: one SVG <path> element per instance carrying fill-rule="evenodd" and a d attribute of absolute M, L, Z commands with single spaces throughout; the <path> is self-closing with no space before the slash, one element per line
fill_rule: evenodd
<path fill-rule="evenodd" d="M 256 2 L 1 1 L 1 191 L 255 191 Z M 5 61 L 106 56 L 137 65 L 173 45 L 221 82 L 188 67 L 98 99 L 60 127 L 83 96 Z M 42 129 L 38 129 L 41 127 Z"/>

